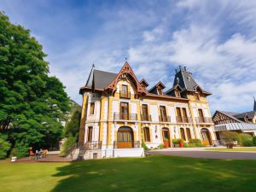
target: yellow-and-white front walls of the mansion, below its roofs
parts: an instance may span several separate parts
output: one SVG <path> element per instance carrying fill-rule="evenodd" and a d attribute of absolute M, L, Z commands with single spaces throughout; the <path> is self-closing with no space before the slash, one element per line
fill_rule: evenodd
<path fill-rule="evenodd" d="M 123 137 L 127 137 L 126 140 L 132 137 L 132 142 L 139 143 L 139 147 L 145 143 L 148 148 L 157 148 L 166 143 L 169 143 L 166 147 L 174 147 L 172 140 L 178 138 L 183 138 L 184 143 L 189 143 L 189 139 L 198 138 L 206 145 L 213 144 L 215 140 L 213 123 L 210 120 L 211 113 L 204 94 L 200 94 L 199 99 L 193 94 L 188 94 L 187 98 L 156 95 L 148 93 L 146 89 L 146 93 L 138 94 L 137 79 L 126 75 L 115 80 L 117 81 L 115 90 L 111 91 L 107 88 L 105 90 L 93 90 L 86 86 L 81 88 L 83 106 L 79 143 L 101 142 L 102 149 L 125 148 L 119 145 L 121 143 L 119 141 L 125 140 Z M 120 96 L 123 85 L 127 86 L 129 93 L 126 98 Z M 125 108 L 126 105 L 128 106 L 128 114 L 125 114 L 127 117 L 122 116 L 122 110 L 126 110 L 121 107 L 123 102 L 127 103 Z M 94 103 L 93 109 L 91 103 Z M 143 118 L 142 113 L 145 112 L 142 109 L 143 105 L 147 106 L 147 119 Z M 161 119 L 162 108 L 166 109 L 164 120 Z M 187 120 L 181 122 L 178 120 L 177 108 L 181 108 L 180 116 L 185 115 Z M 200 111 L 207 120 L 198 120 L 201 117 Z M 125 135 L 125 129 L 120 131 L 124 127 L 131 130 L 132 136 L 129 136 L 129 129 L 128 136 Z M 127 148 L 133 148 L 134 145 L 133 143 Z"/>

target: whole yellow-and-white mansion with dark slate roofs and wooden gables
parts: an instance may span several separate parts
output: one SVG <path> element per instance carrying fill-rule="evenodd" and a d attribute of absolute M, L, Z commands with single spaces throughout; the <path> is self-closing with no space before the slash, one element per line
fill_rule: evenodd
<path fill-rule="evenodd" d="M 172 140 L 199 138 L 212 145 L 214 124 L 207 96 L 186 67 L 179 67 L 171 89 L 162 82 L 148 89 L 125 62 L 119 73 L 96 70 L 79 93 L 83 96 L 79 143 L 84 159 L 143 156 Z M 166 91 L 165 91 L 166 89 Z M 80 147 L 81 148 L 81 147 Z"/>

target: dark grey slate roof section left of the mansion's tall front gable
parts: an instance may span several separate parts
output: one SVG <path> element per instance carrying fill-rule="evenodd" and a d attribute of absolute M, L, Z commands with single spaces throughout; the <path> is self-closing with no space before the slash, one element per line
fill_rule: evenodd
<path fill-rule="evenodd" d="M 111 84 L 117 75 L 117 73 L 109 73 L 92 69 L 85 87 L 92 88 L 94 85 L 94 89 L 104 90 L 109 84 Z"/>

